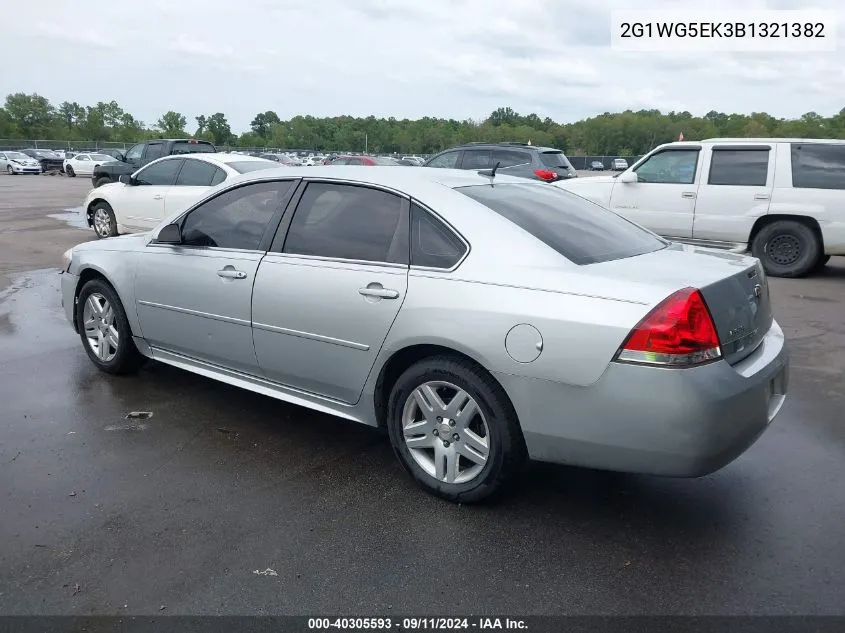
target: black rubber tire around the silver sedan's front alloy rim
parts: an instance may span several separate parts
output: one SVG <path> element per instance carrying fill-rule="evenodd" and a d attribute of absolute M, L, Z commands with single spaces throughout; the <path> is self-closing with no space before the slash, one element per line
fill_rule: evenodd
<path fill-rule="evenodd" d="M 97 356 L 88 342 L 85 334 L 84 307 L 91 295 L 105 297 L 111 306 L 114 316 L 112 325 L 117 330 L 118 345 L 113 358 L 103 360 Z M 144 364 L 146 358 L 138 351 L 135 341 L 132 340 L 132 330 L 129 327 L 129 320 L 126 318 L 126 311 L 120 302 L 120 297 L 107 282 L 102 279 L 92 279 L 82 286 L 76 304 L 76 327 L 79 330 L 79 338 L 82 346 L 88 354 L 88 358 L 98 369 L 109 374 L 131 374 L 138 371 Z"/>

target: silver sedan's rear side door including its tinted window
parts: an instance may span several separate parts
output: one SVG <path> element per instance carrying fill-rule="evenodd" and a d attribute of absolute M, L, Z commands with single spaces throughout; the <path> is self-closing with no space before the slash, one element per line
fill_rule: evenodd
<path fill-rule="evenodd" d="M 267 378 L 358 401 L 405 298 L 408 225 L 408 201 L 393 193 L 307 185 L 255 280 L 253 336 Z"/>

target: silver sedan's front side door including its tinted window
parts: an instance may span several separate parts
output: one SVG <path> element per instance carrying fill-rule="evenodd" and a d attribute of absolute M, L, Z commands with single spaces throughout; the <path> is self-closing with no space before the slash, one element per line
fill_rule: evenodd
<path fill-rule="evenodd" d="M 154 349 L 259 374 L 251 301 L 262 240 L 291 181 L 228 190 L 180 221 L 182 243 L 151 243 L 139 255 L 135 296 Z"/>

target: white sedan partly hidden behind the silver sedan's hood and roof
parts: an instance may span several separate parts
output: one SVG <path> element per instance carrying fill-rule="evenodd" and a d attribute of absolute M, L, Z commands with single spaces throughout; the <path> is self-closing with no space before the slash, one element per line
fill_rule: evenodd
<path fill-rule="evenodd" d="M 278 165 L 238 154 L 190 154 L 159 158 L 131 176 L 92 189 L 82 208 L 97 237 L 149 231 L 161 219 L 187 209 L 212 187 L 234 176 Z"/>

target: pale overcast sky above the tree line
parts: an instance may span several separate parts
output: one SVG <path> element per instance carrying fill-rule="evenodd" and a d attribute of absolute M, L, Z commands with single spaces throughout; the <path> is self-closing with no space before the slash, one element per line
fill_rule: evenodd
<path fill-rule="evenodd" d="M 0 98 L 24 91 L 56 104 L 115 99 L 148 125 L 169 109 L 185 114 L 189 129 L 198 114 L 224 112 L 242 132 L 264 110 L 283 119 L 479 119 L 510 106 L 569 122 L 628 108 L 796 117 L 845 107 L 843 43 L 833 53 L 610 48 L 611 7 L 735 0 L 6 1 Z"/>

